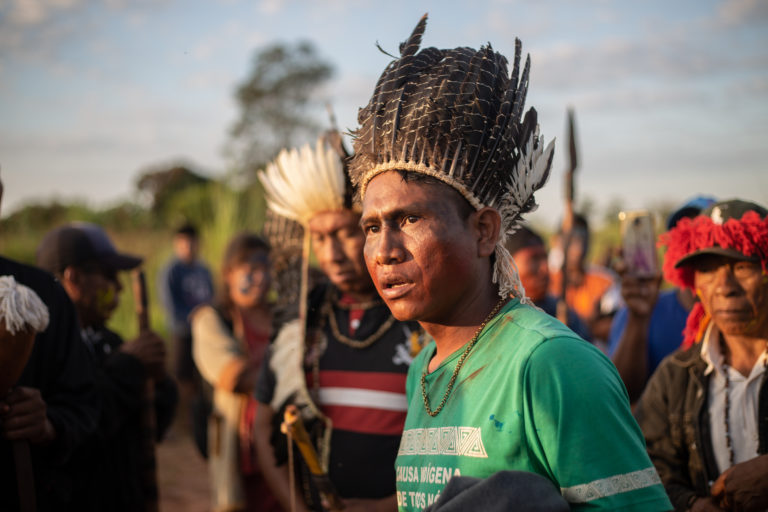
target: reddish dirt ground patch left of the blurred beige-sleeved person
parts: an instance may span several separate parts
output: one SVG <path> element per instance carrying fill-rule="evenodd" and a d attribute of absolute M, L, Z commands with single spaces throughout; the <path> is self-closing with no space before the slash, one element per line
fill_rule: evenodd
<path fill-rule="evenodd" d="M 209 511 L 208 466 L 178 416 L 156 455 L 160 512 Z"/>

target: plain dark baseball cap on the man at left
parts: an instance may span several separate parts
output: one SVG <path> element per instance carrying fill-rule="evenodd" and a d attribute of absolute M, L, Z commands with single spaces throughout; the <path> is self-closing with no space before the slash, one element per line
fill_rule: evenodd
<path fill-rule="evenodd" d="M 141 261 L 138 256 L 117 252 L 104 230 L 88 222 L 66 224 L 48 232 L 37 248 L 37 265 L 53 274 L 86 263 L 129 270 Z"/>

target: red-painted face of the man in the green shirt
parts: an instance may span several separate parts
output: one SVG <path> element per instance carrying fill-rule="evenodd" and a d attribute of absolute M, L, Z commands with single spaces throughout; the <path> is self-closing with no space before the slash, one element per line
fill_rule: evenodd
<path fill-rule="evenodd" d="M 478 270 L 477 241 L 447 185 L 406 182 L 394 171 L 368 184 L 361 225 L 365 263 L 398 320 L 450 324 Z"/>

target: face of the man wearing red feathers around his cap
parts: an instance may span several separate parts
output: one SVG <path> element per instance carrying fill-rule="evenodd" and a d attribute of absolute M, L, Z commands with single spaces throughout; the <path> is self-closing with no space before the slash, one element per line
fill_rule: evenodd
<path fill-rule="evenodd" d="M 768 336 L 768 276 L 759 263 L 708 255 L 694 265 L 696 293 L 720 332 Z"/>

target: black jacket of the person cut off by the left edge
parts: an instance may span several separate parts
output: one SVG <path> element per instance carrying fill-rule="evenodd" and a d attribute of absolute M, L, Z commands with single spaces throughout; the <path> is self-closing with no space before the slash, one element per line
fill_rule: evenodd
<path fill-rule="evenodd" d="M 48 306 L 48 327 L 35 337 L 17 386 L 35 388 L 45 401 L 56 439 L 31 446 L 37 510 L 82 510 L 89 468 L 77 454 L 96 431 L 101 403 L 94 386 L 95 363 L 80 340 L 77 314 L 67 293 L 47 272 L 0 257 L 0 275 L 12 275 Z M 18 510 L 11 443 L 0 436 L 0 510 Z"/>

